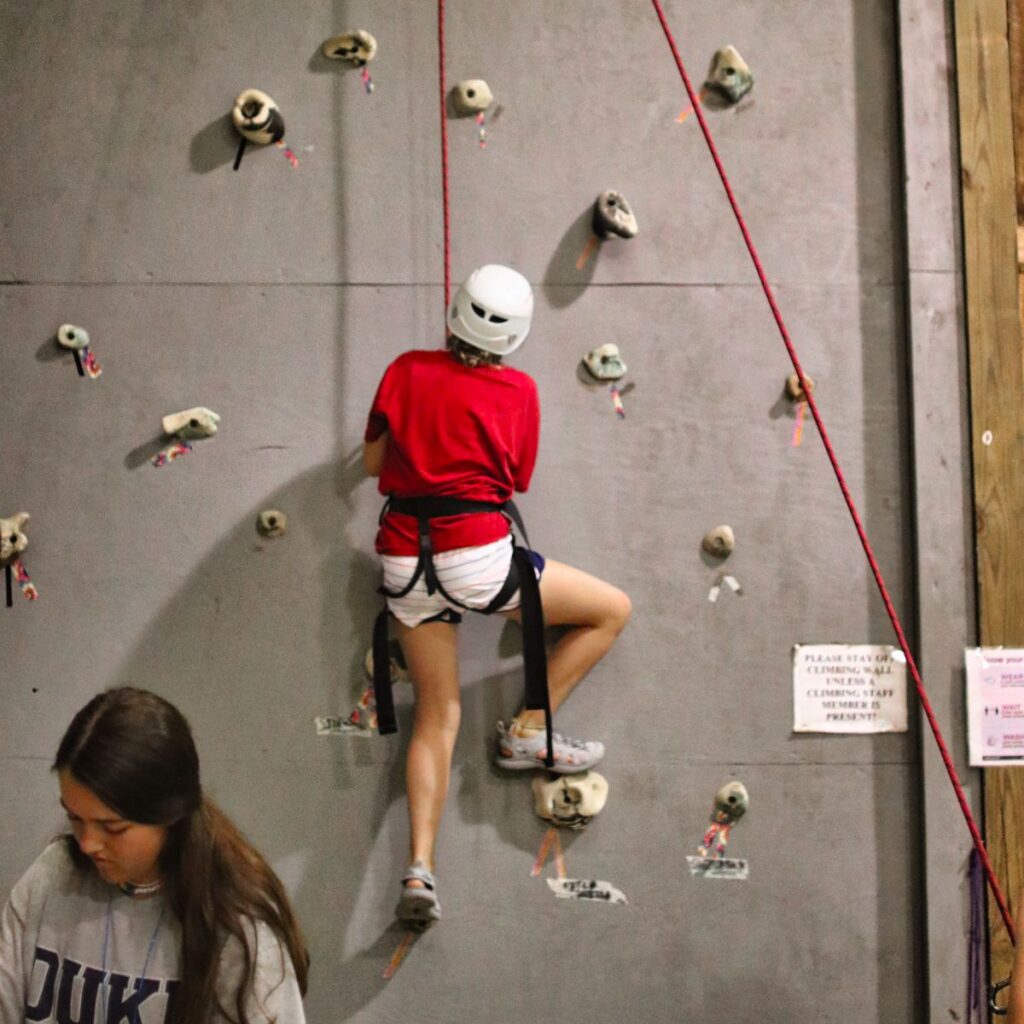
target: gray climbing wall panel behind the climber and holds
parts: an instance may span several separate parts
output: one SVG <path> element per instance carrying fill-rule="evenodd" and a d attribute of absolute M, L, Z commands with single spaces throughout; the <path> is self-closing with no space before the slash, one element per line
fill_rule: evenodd
<path fill-rule="evenodd" d="M 912 623 L 896 4 L 667 6 L 697 80 L 725 43 L 754 70 L 753 101 L 712 128 Z M 410 695 L 398 738 L 314 734 L 361 691 L 378 608 L 366 412 L 391 358 L 441 340 L 425 0 L 0 5 L 0 514 L 32 513 L 41 595 L 0 608 L 0 887 L 59 826 L 48 765 L 71 715 L 130 682 L 189 716 L 208 788 L 288 884 L 311 1022 L 916 1020 L 916 736 L 791 733 L 792 645 L 891 633 L 813 427 L 791 444 L 791 368 L 695 119 L 676 120 L 653 10 L 449 8 L 450 82 L 485 77 L 501 104 L 486 150 L 472 121 L 451 125 L 455 275 L 511 263 L 539 299 L 515 357 L 544 409 L 531 539 L 634 601 L 561 717 L 606 740 L 611 782 L 566 840 L 569 873 L 629 905 L 556 901 L 530 878 L 528 778 L 489 764 L 520 691 L 511 628 L 463 627 L 445 920 L 390 982 Z M 373 95 L 318 55 L 355 27 L 380 42 Z M 250 147 L 232 172 L 225 114 L 248 86 L 281 104 L 299 169 Z M 579 270 L 606 187 L 641 236 Z M 91 332 L 98 382 L 54 349 L 66 321 Z M 636 385 L 622 422 L 577 374 L 608 341 Z M 154 469 L 160 417 L 193 404 L 220 433 Z M 288 512 L 285 540 L 256 536 L 266 507 Z M 698 543 L 723 521 L 743 593 L 712 604 Z M 697 882 L 684 857 L 733 777 L 751 879 Z"/>

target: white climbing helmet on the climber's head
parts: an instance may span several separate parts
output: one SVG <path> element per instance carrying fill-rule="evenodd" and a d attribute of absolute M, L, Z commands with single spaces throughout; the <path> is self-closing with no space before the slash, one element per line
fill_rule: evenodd
<path fill-rule="evenodd" d="M 459 286 L 449 310 L 449 330 L 495 355 L 514 352 L 529 334 L 534 292 L 518 270 L 488 263 Z"/>

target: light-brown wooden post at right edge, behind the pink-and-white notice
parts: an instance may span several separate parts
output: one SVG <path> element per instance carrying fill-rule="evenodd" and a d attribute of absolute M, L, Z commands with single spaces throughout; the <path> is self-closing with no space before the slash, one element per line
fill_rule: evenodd
<path fill-rule="evenodd" d="M 1024 646 L 1024 362 L 1007 3 L 954 0 L 954 11 L 979 636 L 986 646 L 1019 647 Z M 985 772 L 985 818 L 992 862 L 1015 911 L 1024 884 L 1021 769 Z M 989 934 L 992 975 L 1005 978 L 1012 949 L 992 900 Z"/>

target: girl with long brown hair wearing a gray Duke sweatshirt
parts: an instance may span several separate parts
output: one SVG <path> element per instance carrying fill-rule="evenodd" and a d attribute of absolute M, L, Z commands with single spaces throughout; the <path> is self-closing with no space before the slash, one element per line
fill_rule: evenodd
<path fill-rule="evenodd" d="M 188 723 L 108 690 L 53 762 L 71 835 L 0 920 L 0 1021 L 303 1024 L 309 956 L 281 881 L 203 794 Z"/>

